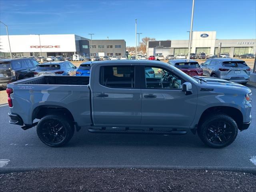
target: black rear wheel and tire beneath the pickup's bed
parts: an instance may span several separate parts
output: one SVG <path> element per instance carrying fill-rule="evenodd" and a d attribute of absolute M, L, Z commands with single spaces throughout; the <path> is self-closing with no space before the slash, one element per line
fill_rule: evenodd
<path fill-rule="evenodd" d="M 62 115 L 46 115 L 37 124 L 40 140 L 51 147 L 67 144 L 74 135 L 74 126 Z"/>

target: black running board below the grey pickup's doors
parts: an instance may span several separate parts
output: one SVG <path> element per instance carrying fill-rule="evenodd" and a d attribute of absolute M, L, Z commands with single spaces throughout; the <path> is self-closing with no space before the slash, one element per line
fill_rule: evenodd
<path fill-rule="evenodd" d="M 185 130 L 154 130 L 154 129 L 147 129 L 147 130 L 136 130 L 136 129 L 129 129 L 126 128 L 125 130 L 109 130 L 106 128 L 89 128 L 89 132 L 91 133 L 114 133 L 114 134 L 155 134 L 155 135 L 184 135 L 187 133 Z"/>

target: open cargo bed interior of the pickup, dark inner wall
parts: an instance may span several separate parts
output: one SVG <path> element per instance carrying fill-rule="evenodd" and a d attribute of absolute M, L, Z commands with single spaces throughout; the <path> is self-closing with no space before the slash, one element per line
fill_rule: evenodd
<path fill-rule="evenodd" d="M 88 85 L 88 76 L 40 76 L 16 81 L 12 84 L 37 84 L 37 85 Z"/>

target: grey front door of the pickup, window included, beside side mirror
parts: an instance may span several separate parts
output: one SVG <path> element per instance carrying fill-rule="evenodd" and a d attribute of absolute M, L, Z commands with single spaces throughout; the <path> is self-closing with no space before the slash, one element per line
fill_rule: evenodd
<path fill-rule="evenodd" d="M 141 74 L 143 75 L 143 74 Z M 185 81 L 166 68 L 144 67 L 145 85 L 142 85 L 142 126 L 186 128 L 194 119 L 197 90 L 182 92 Z"/>

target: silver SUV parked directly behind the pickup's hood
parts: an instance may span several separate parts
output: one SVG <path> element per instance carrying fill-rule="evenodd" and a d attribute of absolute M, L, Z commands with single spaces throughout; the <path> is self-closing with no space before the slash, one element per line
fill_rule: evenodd
<path fill-rule="evenodd" d="M 217 77 L 232 82 L 246 83 L 250 80 L 250 67 L 246 62 L 232 58 L 213 58 L 201 64 L 204 76 Z"/>

